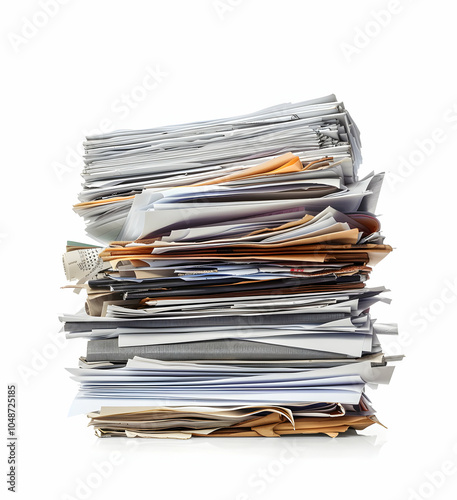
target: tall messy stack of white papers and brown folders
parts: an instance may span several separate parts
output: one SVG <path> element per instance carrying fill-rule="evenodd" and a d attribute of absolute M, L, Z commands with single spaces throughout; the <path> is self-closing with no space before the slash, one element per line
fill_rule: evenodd
<path fill-rule="evenodd" d="M 380 337 L 367 287 L 392 248 L 334 96 L 209 122 L 89 137 L 61 317 L 86 338 L 71 413 L 100 437 L 336 436 L 377 422 Z M 111 241 L 109 241 L 111 240 Z"/>

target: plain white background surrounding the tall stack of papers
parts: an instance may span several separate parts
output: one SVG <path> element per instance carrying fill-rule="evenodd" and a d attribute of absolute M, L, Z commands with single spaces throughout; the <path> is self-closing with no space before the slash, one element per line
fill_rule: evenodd
<path fill-rule="evenodd" d="M 455 498 L 455 4 L 48 4 L 52 14 L 30 0 L 1 7 L 0 436 L 6 444 L 6 385 L 16 382 L 16 498 Z M 145 90 L 148 68 L 158 84 Z M 370 393 L 388 430 L 127 442 L 97 440 L 85 416 L 67 418 L 77 387 L 64 368 L 76 366 L 85 343 L 61 345 L 57 315 L 83 301 L 60 286 L 66 240 L 88 241 L 71 208 L 84 133 L 219 118 L 330 93 L 362 131 L 361 173 L 390 172 L 378 213 L 395 251 L 373 283 L 392 289 L 392 306 L 377 312 L 402 332 L 386 347 L 407 357 L 390 386 Z M 132 104 L 121 104 L 123 96 Z M 5 444 L 0 489 L 7 492 Z M 97 467 L 113 458 L 102 477 Z"/>

